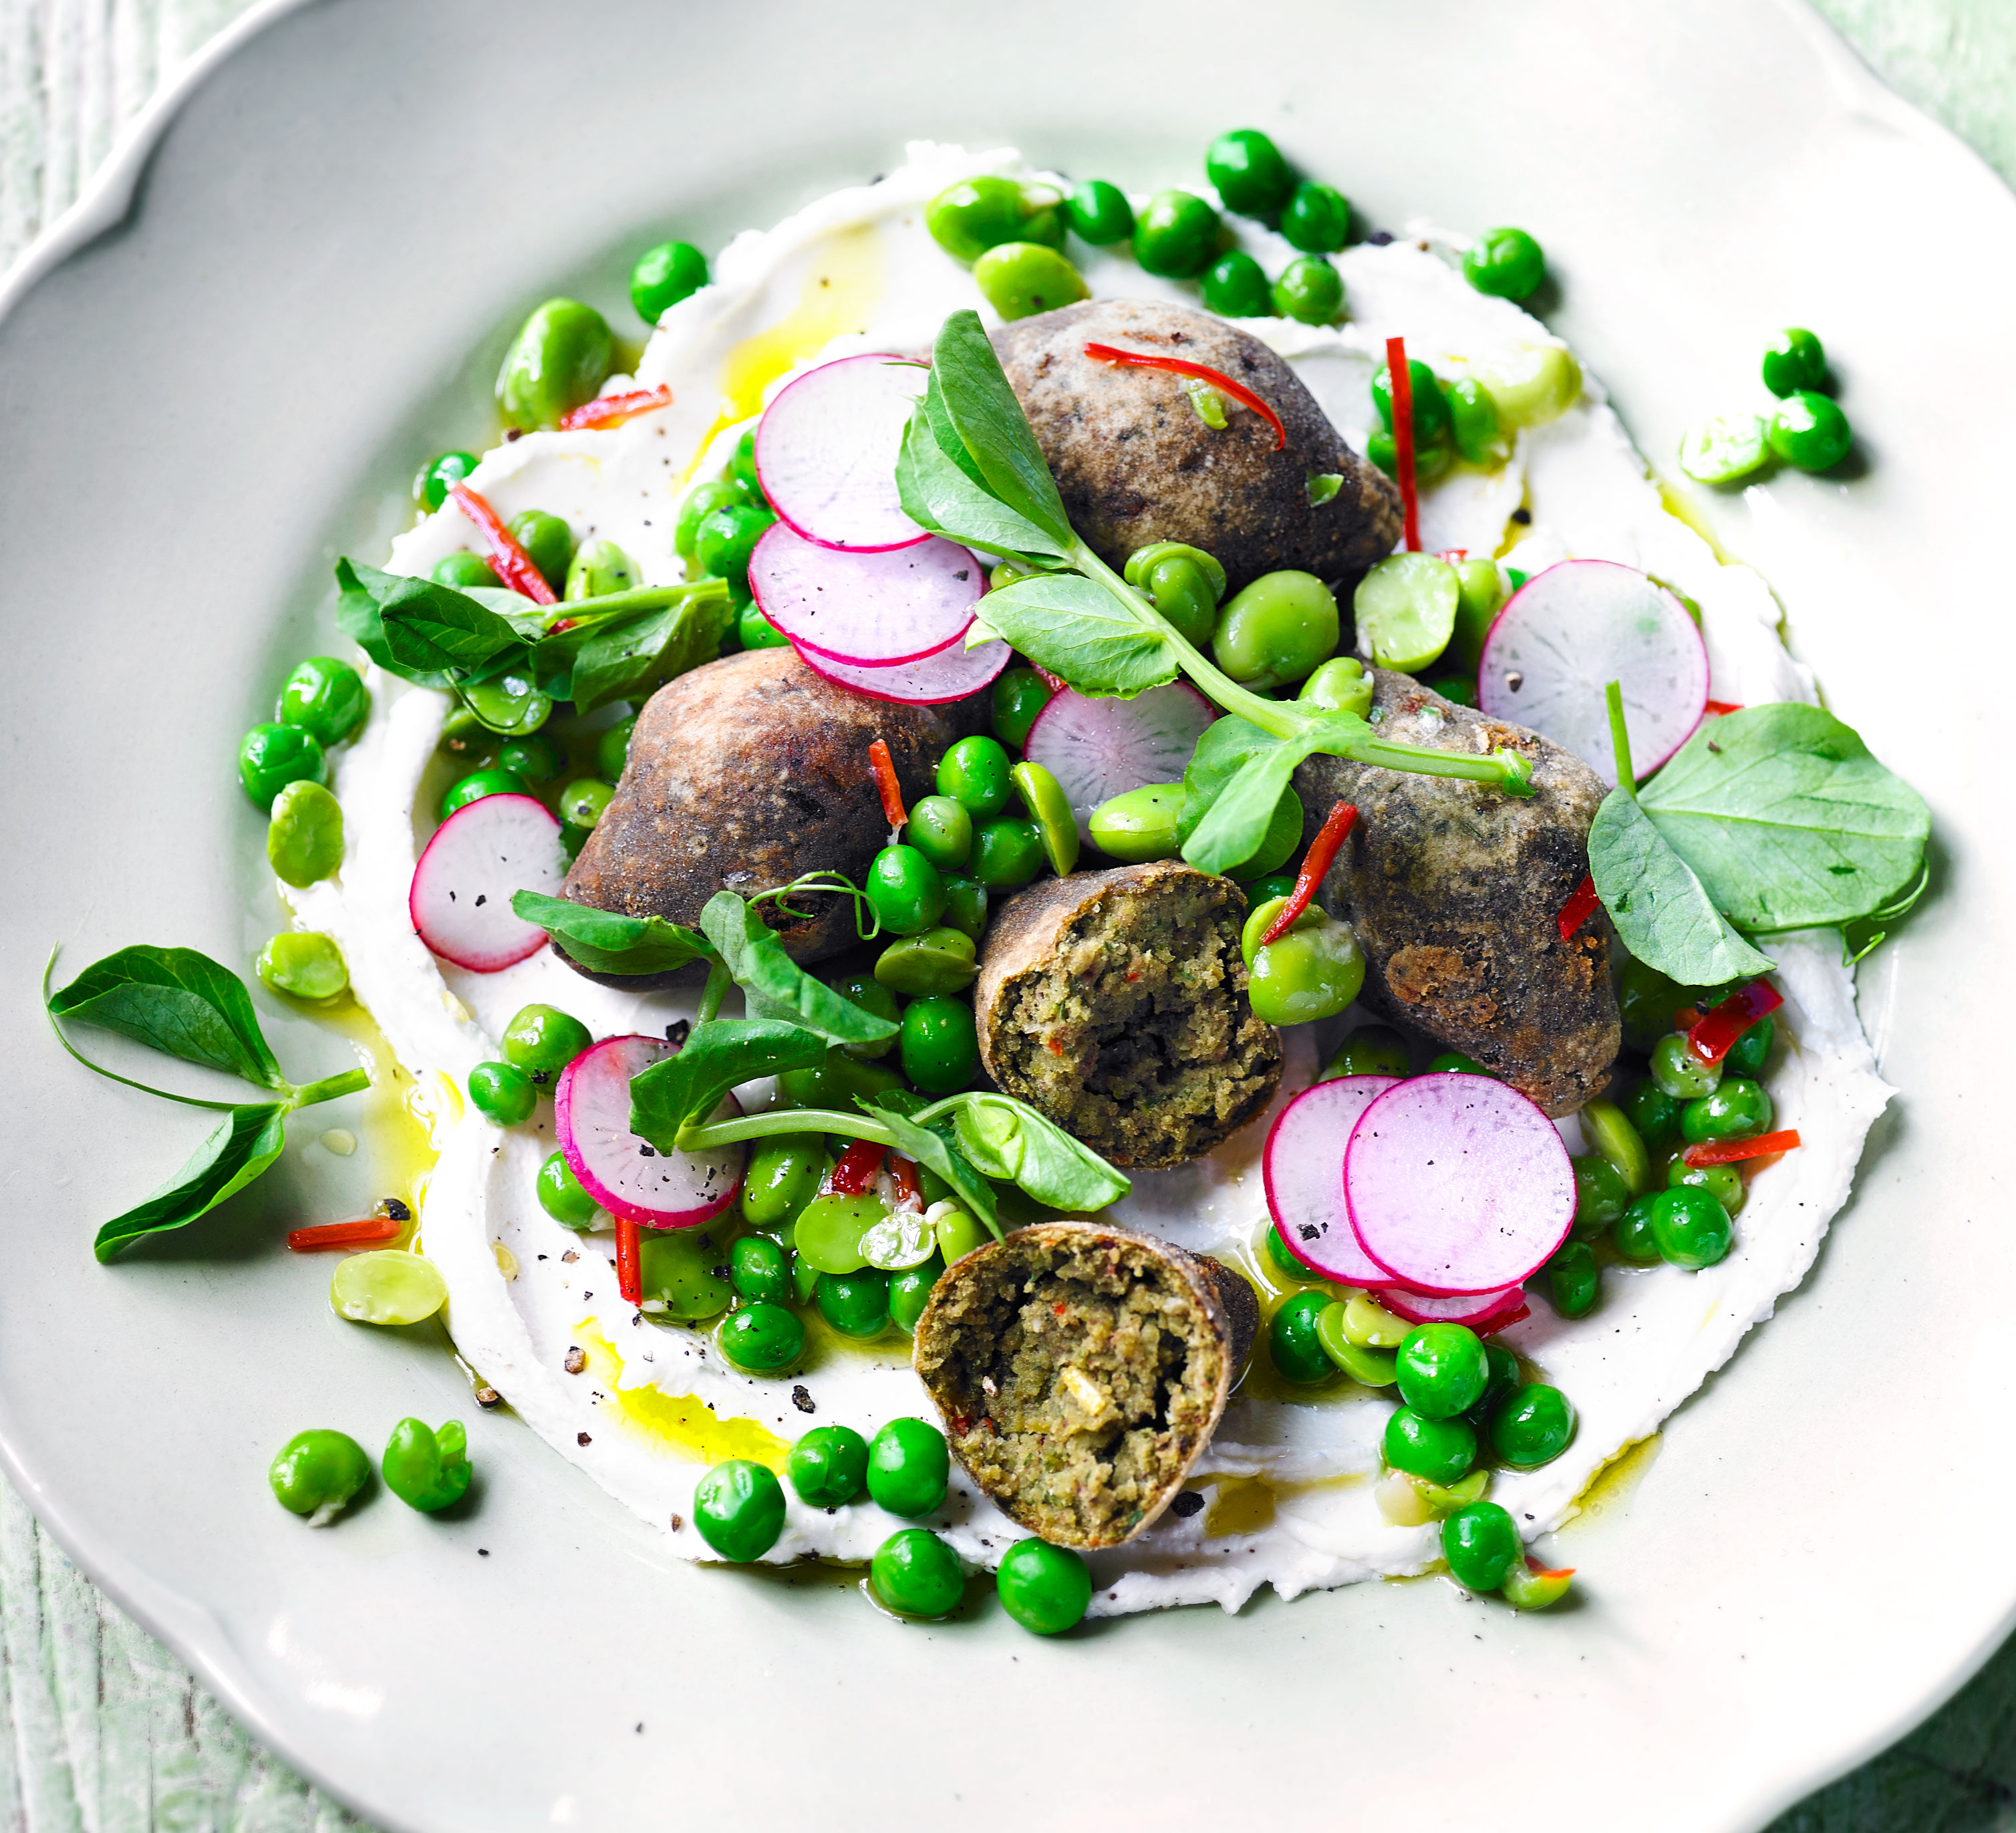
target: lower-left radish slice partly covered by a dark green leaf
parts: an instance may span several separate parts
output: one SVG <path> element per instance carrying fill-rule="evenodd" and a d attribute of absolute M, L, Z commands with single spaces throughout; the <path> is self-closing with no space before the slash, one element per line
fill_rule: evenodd
<path fill-rule="evenodd" d="M 629 1129 L 629 1085 L 671 1045 L 657 1036 L 605 1036 L 589 1045 L 552 1091 L 552 1129 L 581 1188 L 619 1222 L 643 1228 L 700 1228 L 742 1190 L 744 1147 L 659 1151 Z M 742 1113 L 724 1095 L 714 1119 Z"/>

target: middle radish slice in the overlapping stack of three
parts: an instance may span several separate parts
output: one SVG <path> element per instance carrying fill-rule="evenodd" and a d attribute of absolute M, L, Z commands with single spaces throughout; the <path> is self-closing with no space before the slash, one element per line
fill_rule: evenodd
<path fill-rule="evenodd" d="M 986 589 L 986 567 L 935 534 L 857 555 L 772 522 L 750 555 L 762 615 L 800 649 L 847 667 L 895 667 L 950 649 Z"/>

